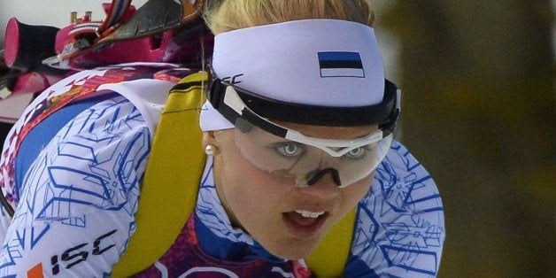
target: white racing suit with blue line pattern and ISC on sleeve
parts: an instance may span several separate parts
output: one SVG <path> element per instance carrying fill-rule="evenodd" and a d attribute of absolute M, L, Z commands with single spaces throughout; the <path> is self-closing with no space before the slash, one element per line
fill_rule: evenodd
<path fill-rule="evenodd" d="M 135 232 L 139 189 L 156 126 L 155 116 L 134 94 L 147 91 L 163 100 L 173 84 L 167 79 L 151 82 L 157 79 L 152 70 L 130 70 L 137 68 L 141 74 L 94 89 L 102 94 L 66 102 L 27 130 L 25 140 L 15 143 L 14 134 L 33 122 L 34 117 L 27 116 L 4 143 L 0 183 L 17 207 L 12 220 L 4 210 L 0 219 L 1 276 L 111 274 Z M 79 78 L 66 80 L 65 86 L 50 89 L 45 93 L 48 97 L 36 100 L 27 115 L 36 114 L 32 111 L 44 99 L 105 73 L 79 73 Z M 436 275 L 444 242 L 443 206 L 434 181 L 400 143 L 392 145 L 376 169 L 371 189 L 357 206 L 356 219 L 344 276 Z M 208 159 L 195 212 L 166 254 L 138 276 L 253 275 L 308 277 L 310 271 L 303 260 L 276 258 L 249 234 L 231 226 Z"/>

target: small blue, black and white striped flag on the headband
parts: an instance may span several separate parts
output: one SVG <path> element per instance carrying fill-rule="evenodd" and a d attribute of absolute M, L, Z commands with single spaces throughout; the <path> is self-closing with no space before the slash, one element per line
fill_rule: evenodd
<path fill-rule="evenodd" d="M 358 52 L 318 52 L 320 77 L 365 77 Z"/>

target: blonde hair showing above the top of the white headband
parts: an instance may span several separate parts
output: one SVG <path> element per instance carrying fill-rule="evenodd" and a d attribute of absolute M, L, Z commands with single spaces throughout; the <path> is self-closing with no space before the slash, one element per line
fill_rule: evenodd
<path fill-rule="evenodd" d="M 368 0 L 220 0 L 207 1 L 204 17 L 214 35 L 299 19 L 343 19 L 372 26 Z"/>

